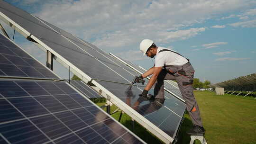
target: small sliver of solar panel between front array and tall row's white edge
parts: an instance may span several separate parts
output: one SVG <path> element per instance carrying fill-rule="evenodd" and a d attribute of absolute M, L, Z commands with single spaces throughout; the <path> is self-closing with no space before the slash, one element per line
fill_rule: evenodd
<path fill-rule="evenodd" d="M 70 84 L 74 88 L 82 92 L 82 94 L 88 98 L 102 98 L 100 94 L 92 90 L 87 84 L 83 83 L 82 81 L 78 81 L 78 80 L 67 80 L 67 81 L 70 82 Z"/>

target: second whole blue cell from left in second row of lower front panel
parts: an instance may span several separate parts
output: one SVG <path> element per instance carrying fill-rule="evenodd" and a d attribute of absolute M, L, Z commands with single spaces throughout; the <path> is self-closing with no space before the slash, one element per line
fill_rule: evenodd
<path fill-rule="evenodd" d="M 40 102 L 46 109 L 48 109 L 52 113 L 67 110 L 67 108 L 65 108 L 63 104 L 61 104 L 57 99 L 52 96 L 42 96 L 34 98 L 37 99 L 38 102 Z"/>

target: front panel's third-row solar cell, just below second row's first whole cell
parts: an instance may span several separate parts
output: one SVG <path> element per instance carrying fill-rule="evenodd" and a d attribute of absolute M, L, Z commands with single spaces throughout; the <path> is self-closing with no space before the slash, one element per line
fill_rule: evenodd
<path fill-rule="evenodd" d="M 31 118 L 30 120 L 51 139 L 71 133 L 71 131 L 53 115 Z"/>

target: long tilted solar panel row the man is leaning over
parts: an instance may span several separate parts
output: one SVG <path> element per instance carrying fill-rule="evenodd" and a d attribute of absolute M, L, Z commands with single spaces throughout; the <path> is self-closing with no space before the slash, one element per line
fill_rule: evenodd
<path fill-rule="evenodd" d="M 164 105 L 159 105 L 155 101 L 145 101 L 139 97 L 144 86 L 131 86 L 131 81 L 135 75 L 139 75 L 139 70 L 131 68 L 96 46 L 13 7 L 3 0 L 0 0 L 0 16 L 5 22 L 9 22 L 10 26 L 15 26 L 24 36 L 34 39 L 54 54 L 58 58 L 57 60 L 70 66 L 73 73 L 78 74 L 77 76 L 83 80 L 83 84 L 88 81 L 94 84 L 106 94 L 106 98 L 110 102 L 145 126 L 166 144 L 174 141 L 186 108 L 177 85 L 170 82 L 165 83 L 169 87 L 166 87 L 166 91 L 169 93 L 165 93 Z M 3 57 L 8 59 L 6 56 Z M 20 58 L 26 61 L 25 57 L 21 56 Z M 31 63 L 28 64 L 33 67 Z M 18 67 L 19 70 L 21 70 L 19 67 L 25 66 L 24 63 L 22 65 L 12 63 L 12 65 Z M 37 70 L 37 68 L 34 69 Z M 37 70 L 37 72 L 39 71 Z M 8 75 L 6 72 L 2 73 Z M 26 76 L 21 75 L 20 77 Z M 41 78 L 42 76 L 34 74 L 33 77 Z M 81 86 L 81 84 L 79 85 Z M 79 86 L 74 87 L 79 89 Z M 153 94 L 153 90 L 149 93 Z"/>

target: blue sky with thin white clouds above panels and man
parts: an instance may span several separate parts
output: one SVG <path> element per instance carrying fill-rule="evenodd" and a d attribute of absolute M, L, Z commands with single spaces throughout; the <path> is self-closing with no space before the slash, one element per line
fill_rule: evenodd
<path fill-rule="evenodd" d="M 140 41 L 149 38 L 189 58 L 201 81 L 217 83 L 256 72 L 256 0 L 8 2 L 144 68 L 154 64 L 139 51 Z M 6 29 L 12 36 L 13 30 Z M 45 54 L 33 44 L 18 34 L 15 41 L 45 63 Z M 68 77 L 55 66 L 55 72 Z"/>

